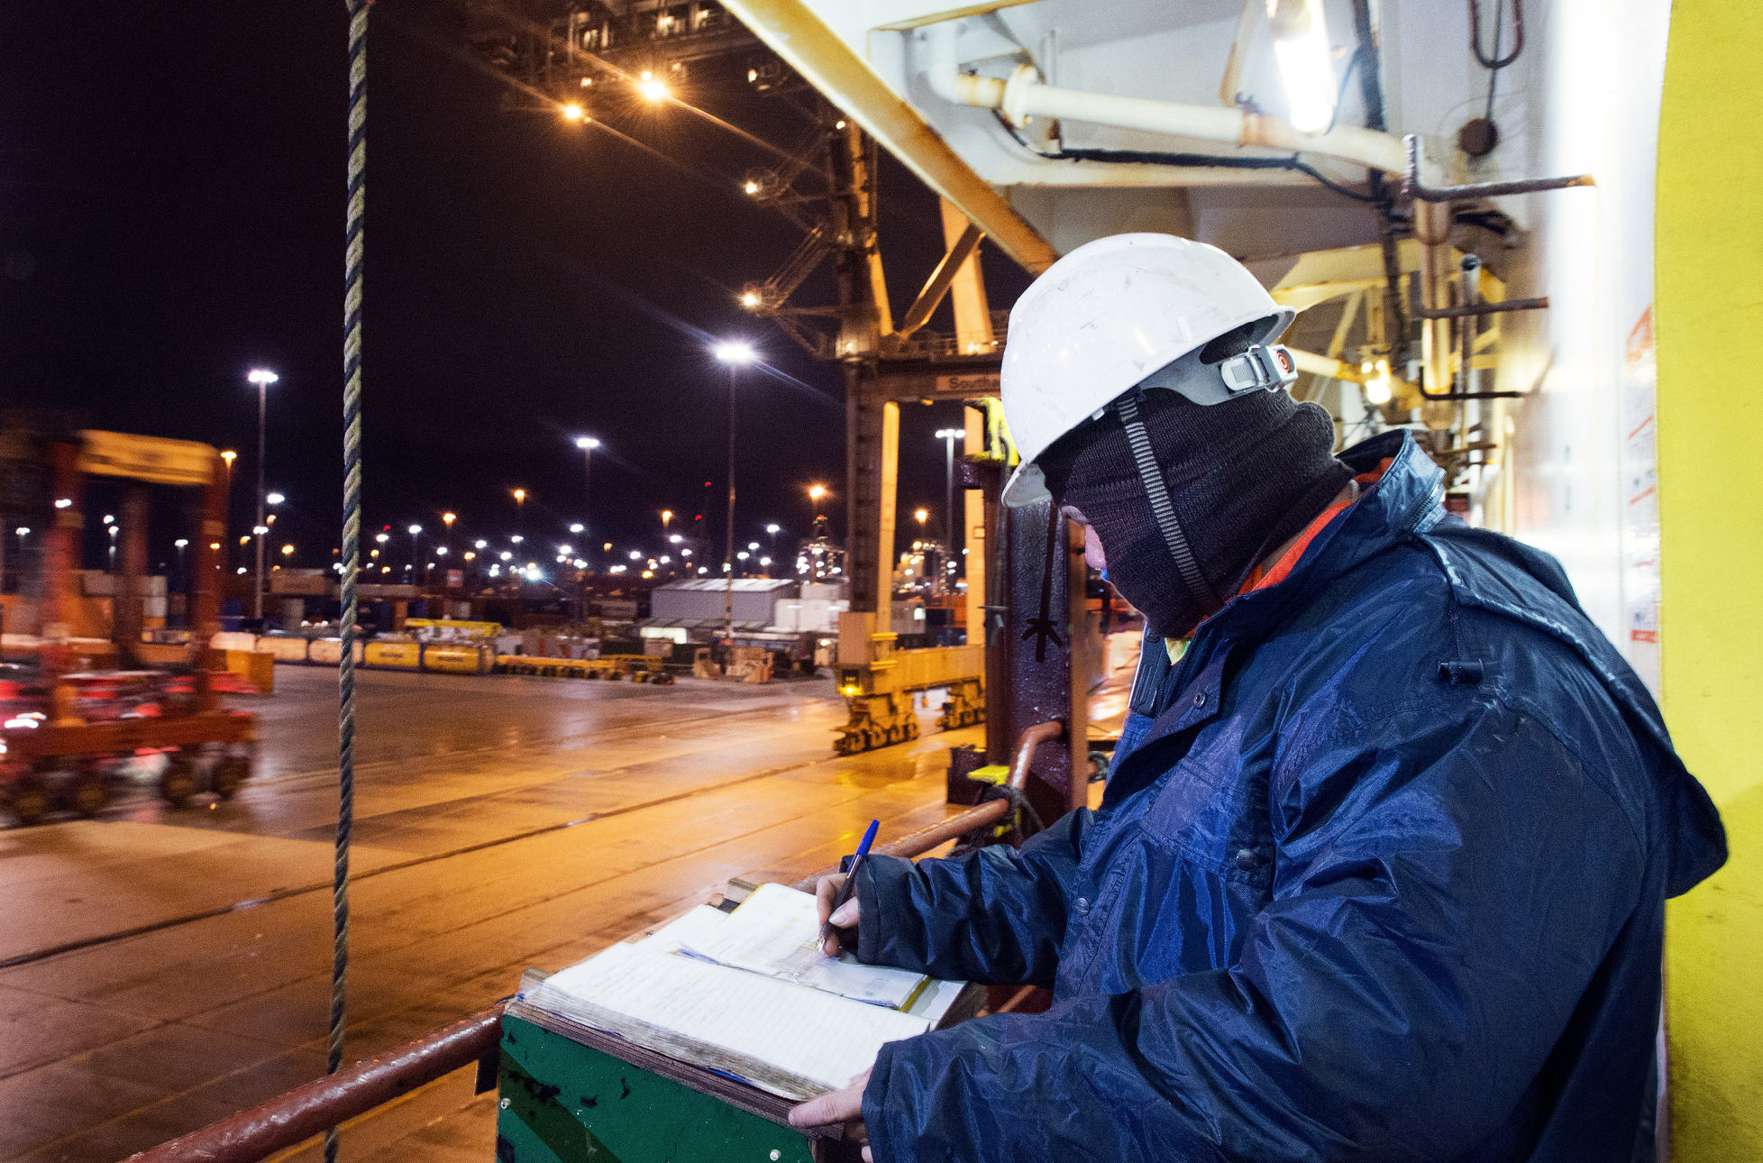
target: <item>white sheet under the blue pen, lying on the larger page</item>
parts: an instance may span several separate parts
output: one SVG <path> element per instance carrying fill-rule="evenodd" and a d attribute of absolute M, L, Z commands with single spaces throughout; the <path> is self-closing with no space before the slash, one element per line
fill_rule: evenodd
<path fill-rule="evenodd" d="M 855 957 L 832 959 L 820 952 L 820 913 L 813 893 L 783 885 L 760 885 L 723 925 L 681 941 L 681 952 L 813 989 L 904 1008 L 924 985 L 922 973 L 866 966 Z"/>

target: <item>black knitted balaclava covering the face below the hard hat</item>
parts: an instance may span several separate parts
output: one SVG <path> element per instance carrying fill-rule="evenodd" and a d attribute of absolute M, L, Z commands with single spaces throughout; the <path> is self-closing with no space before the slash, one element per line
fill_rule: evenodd
<path fill-rule="evenodd" d="M 1054 504 L 1102 537 L 1109 582 L 1151 631 L 1183 638 L 1229 601 L 1261 557 L 1298 536 L 1352 479 L 1335 460 L 1335 421 L 1285 391 L 1199 405 L 1134 389 L 1174 515 L 1215 601 L 1190 592 L 1151 513 L 1118 407 L 1061 437 L 1037 463 Z"/>

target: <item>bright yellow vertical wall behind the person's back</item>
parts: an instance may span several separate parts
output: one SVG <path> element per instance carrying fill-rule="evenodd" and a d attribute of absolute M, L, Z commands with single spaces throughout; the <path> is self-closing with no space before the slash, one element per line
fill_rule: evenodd
<path fill-rule="evenodd" d="M 1678 1163 L 1763 1159 L 1759 55 L 1763 5 L 1673 4 L 1657 206 L 1661 691 L 1731 844 L 1728 865 L 1670 906 Z"/>

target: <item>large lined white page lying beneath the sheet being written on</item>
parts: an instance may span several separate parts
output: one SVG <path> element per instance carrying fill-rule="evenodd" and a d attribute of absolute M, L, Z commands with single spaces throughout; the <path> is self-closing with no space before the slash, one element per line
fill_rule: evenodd
<path fill-rule="evenodd" d="M 527 997 L 562 1013 L 571 1010 L 571 999 L 767 1063 L 827 1091 L 844 1087 L 853 1075 L 873 1066 L 885 1041 L 911 1038 L 931 1027 L 929 1020 L 896 1010 L 853 1004 L 788 982 L 636 944 L 614 944 L 550 976 Z M 598 1024 L 592 1017 L 587 1020 Z M 679 1045 L 663 1038 L 645 1040 L 642 1029 L 608 1027 L 638 1045 L 681 1056 Z M 811 1096 L 776 1084 L 767 1089 L 786 1098 Z"/>

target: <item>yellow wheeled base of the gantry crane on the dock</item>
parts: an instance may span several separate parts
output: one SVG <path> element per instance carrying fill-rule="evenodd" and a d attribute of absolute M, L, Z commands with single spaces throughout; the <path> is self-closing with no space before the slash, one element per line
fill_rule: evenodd
<path fill-rule="evenodd" d="M 896 650 L 897 634 L 874 631 L 876 615 L 839 617 L 839 693 L 852 717 L 839 728 L 832 749 L 841 756 L 919 738 L 913 710 L 920 691 L 945 689 L 936 726 L 986 722 L 986 647 L 931 647 Z"/>

